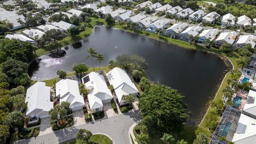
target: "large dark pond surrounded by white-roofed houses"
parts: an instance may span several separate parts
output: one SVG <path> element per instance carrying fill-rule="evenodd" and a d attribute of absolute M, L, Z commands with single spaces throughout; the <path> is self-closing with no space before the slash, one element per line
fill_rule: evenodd
<path fill-rule="evenodd" d="M 206 102 L 213 97 L 218 84 L 227 69 L 225 63 L 216 55 L 206 52 L 182 49 L 179 46 L 159 42 L 118 29 L 95 27 L 93 33 L 75 45 L 62 49 L 66 55 L 51 58 L 43 55 L 39 64 L 30 66 L 29 73 L 33 79 L 43 80 L 57 77 L 58 69 L 70 72 L 74 63 L 86 63 L 92 67 L 91 60 L 86 59 L 88 47 L 94 47 L 105 56 L 102 66 L 121 54 L 137 54 L 146 59 L 149 67 L 146 73 L 153 82 L 169 85 L 186 96 L 188 111 L 192 112 L 188 123 L 201 121 Z M 97 63 L 98 62 L 94 62 Z"/>

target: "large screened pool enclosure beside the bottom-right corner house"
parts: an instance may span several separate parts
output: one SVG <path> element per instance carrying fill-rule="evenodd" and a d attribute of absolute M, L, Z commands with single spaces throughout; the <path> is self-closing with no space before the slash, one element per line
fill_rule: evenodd
<path fill-rule="evenodd" d="M 215 134 L 219 137 L 225 137 L 226 140 L 231 141 L 233 139 L 234 133 L 236 132 L 241 114 L 241 110 L 227 106 L 223 112 L 223 115 L 221 116 Z"/>

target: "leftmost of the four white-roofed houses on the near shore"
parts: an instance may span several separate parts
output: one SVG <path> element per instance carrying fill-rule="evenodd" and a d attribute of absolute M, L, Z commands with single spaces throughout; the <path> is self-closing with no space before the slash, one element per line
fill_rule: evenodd
<path fill-rule="evenodd" d="M 53 108 L 51 101 L 50 87 L 45 86 L 44 82 L 37 82 L 27 89 L 26 100 L 27 111 L 26 115 L 31 119 L 50 117 L 49 110 Z M 32 120 L 32 123 L 33 123 Z"/>

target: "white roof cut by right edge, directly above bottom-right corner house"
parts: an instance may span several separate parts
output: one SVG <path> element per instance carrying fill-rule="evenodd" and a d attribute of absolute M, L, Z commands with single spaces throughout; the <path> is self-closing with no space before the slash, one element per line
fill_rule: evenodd
<path fill-rule="evenodd" d="M 256 116 L 256 100 L 254 102 L 250 102 L 248 99 L 251 97 L 252 99 L 256 99 L 256 92 L 250 90 L 248 95 L 247 95 L 247 101 L 244 105 L 243 111 L 246 111 L 249 114 L 252 114 Z"/>

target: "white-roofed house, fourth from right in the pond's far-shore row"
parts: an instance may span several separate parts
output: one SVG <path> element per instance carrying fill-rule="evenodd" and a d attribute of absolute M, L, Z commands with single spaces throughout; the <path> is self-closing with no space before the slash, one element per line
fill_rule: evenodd
<path fill-rule="evenodd" d="M 202 30 L 203 28 L 200 26 L 191 26 L 185 29 L 184 31 L 182 31 L 178 35 L 178 38 L 181 39 L 182 41 L 191 41 L 190 35 L 197 36 Z"/>

